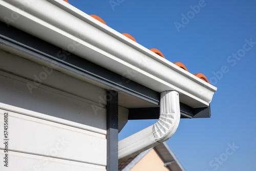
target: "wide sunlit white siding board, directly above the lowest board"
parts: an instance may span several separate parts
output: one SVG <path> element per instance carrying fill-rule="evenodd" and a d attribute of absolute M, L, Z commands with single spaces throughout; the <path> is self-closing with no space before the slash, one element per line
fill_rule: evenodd
<path fill-rule="evenodd" d="M 10 150 L 106 164 L 105 135 L 6 110 L 0 110 L 2 128 L 5 112 L 9 115 Z M 3 134 L 0 137 L 4 139 Z M 4 143 L 0 143 L 0 148 L 4 148 Z"/>

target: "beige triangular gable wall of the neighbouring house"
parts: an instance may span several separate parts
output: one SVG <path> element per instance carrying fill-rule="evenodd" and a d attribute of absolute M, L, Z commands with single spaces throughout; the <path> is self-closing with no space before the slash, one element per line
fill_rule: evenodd
<path fill-rule="evenodd" d="M 151 149 L 132 169 L 131 171 L 151 171 L 151 170 L 160 170 L 160 171 L 168 171 L 166 167 L 164 167 L 164 163 L 161 158 L 156 153 L 155 149 Z"/>

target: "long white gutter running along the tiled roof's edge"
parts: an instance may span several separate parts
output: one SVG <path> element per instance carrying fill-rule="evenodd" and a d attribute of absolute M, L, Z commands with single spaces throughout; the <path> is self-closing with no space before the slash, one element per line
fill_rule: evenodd
<path fill-rule="evenodd" d="M 3 22 L 159 93 L 175 90 L 191 108 L 208 106 L 217 90 L 62 0 L 0 1 L 0 8 Z"/>

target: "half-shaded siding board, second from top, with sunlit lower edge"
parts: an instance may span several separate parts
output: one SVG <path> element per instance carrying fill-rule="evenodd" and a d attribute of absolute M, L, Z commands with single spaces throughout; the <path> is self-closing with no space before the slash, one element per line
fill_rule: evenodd
<path fill-rule="evenodd" d="M 105 108 L 96 102 L 44 85 L 30 93 L 26 84 L 31 81 L 3 71 L 0 71 L 0 82 L 2 103 L 61 118 L 70 124 L 81 124 L 106 134 Z"/>

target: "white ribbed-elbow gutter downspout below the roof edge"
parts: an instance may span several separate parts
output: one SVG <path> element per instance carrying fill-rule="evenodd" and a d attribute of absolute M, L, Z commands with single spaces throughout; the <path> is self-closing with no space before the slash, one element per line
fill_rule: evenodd
<path fill-rule="evenodd" d="M 154 147 L 173 136 L 180 122 L 179 93 L 165 91 L 160 96 L 159 120 L 127 138 L 118 142 L 118 161 L 133 157 Z"/>

